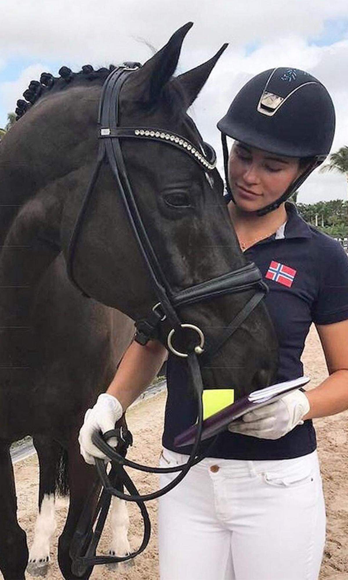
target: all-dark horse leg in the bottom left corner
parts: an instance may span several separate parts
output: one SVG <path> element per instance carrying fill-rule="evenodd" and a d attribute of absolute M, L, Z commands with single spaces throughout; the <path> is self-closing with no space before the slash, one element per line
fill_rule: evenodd
<path fill-rule="evenodd" d="M 17 521 L 9 447 L 7 443 L 0 443 L 0 570 L 5 580 L 23 580 L 28 561 L 27 537 Z"/>

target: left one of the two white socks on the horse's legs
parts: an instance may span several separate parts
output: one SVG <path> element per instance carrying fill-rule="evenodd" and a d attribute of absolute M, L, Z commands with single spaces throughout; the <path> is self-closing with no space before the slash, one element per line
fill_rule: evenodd
<path fill-rule="evenodd" d="M 50 539 L 56 530 L 55 496 L 45 494 L 34 528 L 34 540 L 29 552 L 28 571 L 32 575 L 42 575 L 48 568 Z"/>

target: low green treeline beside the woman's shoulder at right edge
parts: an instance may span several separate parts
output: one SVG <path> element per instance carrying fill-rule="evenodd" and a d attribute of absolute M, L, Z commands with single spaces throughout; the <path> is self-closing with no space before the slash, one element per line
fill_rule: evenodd
<path fill-rule="evenodd" d="M 303 219 L 325 234 L 335 238 L 348 237 L 348 201 L 318 201 L 316 204 L 297 204 Z"/>

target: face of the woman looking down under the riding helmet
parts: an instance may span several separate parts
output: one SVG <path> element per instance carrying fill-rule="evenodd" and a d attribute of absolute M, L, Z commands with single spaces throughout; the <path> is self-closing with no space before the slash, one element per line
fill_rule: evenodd
<path fill-rule="evenodd" d="M 229 157 L 229 184 L 236 205 L 247 212 L 276 201 L 302 173 L 299 159 L 267 153 L 236 141 Z"/>

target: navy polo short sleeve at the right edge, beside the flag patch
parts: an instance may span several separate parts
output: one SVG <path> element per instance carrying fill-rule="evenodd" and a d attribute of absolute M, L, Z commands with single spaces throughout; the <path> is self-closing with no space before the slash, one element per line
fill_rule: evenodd
<path fill-rule="evenodd" d="M 326 238 L 326 236 L 325 236 Z M 332 238 L 323 240 L 317 256 L 318 294 L 313 303 L 315 324 L 333 324 L 348 319 L 348 256 Z"/>

